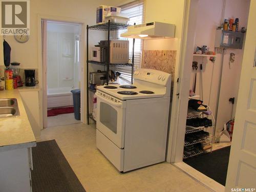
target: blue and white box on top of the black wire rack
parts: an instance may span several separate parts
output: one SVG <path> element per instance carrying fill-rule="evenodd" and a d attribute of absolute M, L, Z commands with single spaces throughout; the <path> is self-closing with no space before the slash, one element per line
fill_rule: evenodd
<path fill-rule="evenodd" d="M 120 7 L 112 7 L 108 5 L 100 5 L 97 7 L 97 16 L 96 16 L 96 23 L 102 24 L 105 23 L 105 16 L 110 12 L 121 12 Z"/>

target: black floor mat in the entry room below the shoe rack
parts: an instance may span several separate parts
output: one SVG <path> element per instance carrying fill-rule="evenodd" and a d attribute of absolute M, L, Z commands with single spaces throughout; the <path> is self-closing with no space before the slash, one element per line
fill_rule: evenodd
<path fill-rule="evenodd" d="M 191 167 L 225 186 L 230 146 L 184 160 Z"/>

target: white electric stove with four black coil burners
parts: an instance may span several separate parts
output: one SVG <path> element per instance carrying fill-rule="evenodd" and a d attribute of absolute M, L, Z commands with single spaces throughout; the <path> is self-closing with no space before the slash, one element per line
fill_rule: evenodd
<path fill-rule="evenodd" d="M 120 172 L 165 161 L 171 76 L 139 69 L 133 85 L 97 87 L 97 148 Z"/>

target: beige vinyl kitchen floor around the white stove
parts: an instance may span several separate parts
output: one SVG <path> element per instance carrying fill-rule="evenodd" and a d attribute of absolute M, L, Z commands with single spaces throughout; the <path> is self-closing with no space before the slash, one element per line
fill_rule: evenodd
<path fill-rule="evenodd" d="M 78 123 L 42 130 L 41 140 L 52 139 L 58 143 L 87 192 L 210 191 L 166 162 L 119 173 L 96 148 L 95 124 Z"/>

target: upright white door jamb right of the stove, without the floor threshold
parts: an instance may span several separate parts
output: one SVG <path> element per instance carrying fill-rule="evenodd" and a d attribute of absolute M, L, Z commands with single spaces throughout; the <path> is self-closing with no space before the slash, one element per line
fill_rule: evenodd
<path fill-rule="evenodd" d="M 191 65 L 193 61 L 194 42 L 196 33 L 198 0 L 185 0 L 183 29 L 181 38 L 179 82 L 172 104 L 172 116 L 170 118 L 170 131 L 168 136 L 168 148 L 166 161 L 178 163 L 183 160 L 183 146 L 185 137 L 185 125 L 187 116 L 187 103 L 190 83 Z M 179 96 L 177 96 L 177 94 Z"/>

